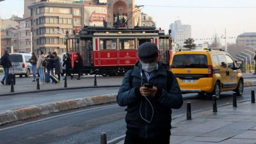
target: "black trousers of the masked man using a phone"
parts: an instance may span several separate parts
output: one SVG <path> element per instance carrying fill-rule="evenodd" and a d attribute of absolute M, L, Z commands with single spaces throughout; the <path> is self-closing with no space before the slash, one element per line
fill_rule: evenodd
<path fill-rule="evenodd" d="M 164 130 L 166 131 L 166 130 Z M 170 130 L 166 132 L 160 132 L 152 138 L 139 137 L 137 132 L 131 132 L 127 130 L 124 139 L 124 144 L 169 144 L 170 143 Z"/>

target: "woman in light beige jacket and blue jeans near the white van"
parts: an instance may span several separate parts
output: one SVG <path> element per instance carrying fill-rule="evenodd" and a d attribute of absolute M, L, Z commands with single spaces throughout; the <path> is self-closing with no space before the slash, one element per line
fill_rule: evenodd
<path fill-rule="evenodd" d="M 44 59 L 44 54 L 43 54 L 43 51 L 40 50 L 38 52 L 38 59 L 37 59 L 37 62 L 36 62 L 36 69 L 38 69 L 38 73 L 40 75 L 40 84 L 44 84 L 44 81 L 45 81 L 45 77 L 44 77 L 44 66 L 42 65 L 42 63 L 45 61 Z"/>

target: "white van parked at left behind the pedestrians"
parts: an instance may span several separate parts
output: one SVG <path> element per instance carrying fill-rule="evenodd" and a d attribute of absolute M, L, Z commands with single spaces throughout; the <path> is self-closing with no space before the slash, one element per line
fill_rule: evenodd
<path fill-rule="evenodd" d="M 9 73 L 13 73 L 15 75 L 25 75 L 25 77 L 29 77 L 32 74 L 32 65 L 29 62 L 31 59 L 31 54 L 29 53 L 10 53 L 9 59 L 12 63 L 12 67 L 9 70 Z"/>

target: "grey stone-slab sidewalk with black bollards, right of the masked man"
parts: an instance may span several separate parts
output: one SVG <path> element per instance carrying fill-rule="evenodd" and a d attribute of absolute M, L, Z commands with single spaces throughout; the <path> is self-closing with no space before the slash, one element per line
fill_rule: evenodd
<path fill-rule="evenodd" d="M 193 105 L 191 105 L 193 106 Z M 256 104 L 251 102 L 192 113 L 172 119 L 170 144 L 255 144 Z M 123 144 L 124 140 L 117 144 Z"/>

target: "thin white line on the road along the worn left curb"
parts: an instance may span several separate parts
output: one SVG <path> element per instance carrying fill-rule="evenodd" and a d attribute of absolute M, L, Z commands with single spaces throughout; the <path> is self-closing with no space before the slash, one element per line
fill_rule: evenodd
<path fill-rule="evenodd" d="M 101 106 L 101 107 L 91 108 L 91 109 L 85 109 L 85 110 L 79 110 L 79 111 L 77 111 L 77 112 L 71 112 L 71 113 L 66 113 L 66 114 L 60 114 L 60 115 L 58 115 L 58 116 L 47 117 L 47 118 L 43 118 L 43 119 L 36 120 L 36 121 L 26 122 L 26 123 L 24 123 L 24 124 L 19 124 L 19 125 L 7 127 L 7 128 L 2 128 L 2 129 L 0 129 L 0 131 L 4 131 L 4 130 L 6 130 L 6 129 L 11 129 L 11 128 L 20 127 L 20 126 L 23 126 L 23 125 L 33 124 L 33 123 L 39 122 L 39 121 L 49 120 L 49 119 L 55 118 L 55 117 L 66 116 L 66 115 L 69 115 L 69 114 L 80 113 L 80 112 L 85 112 L 85 111 L 94 110 L 94 109 L 107 108 L 107 107 L 111 107 L 111 106 L 117 106 L 117 104 L 115 104 L 115 105 L 108 105 L 108 106 Z"/>

